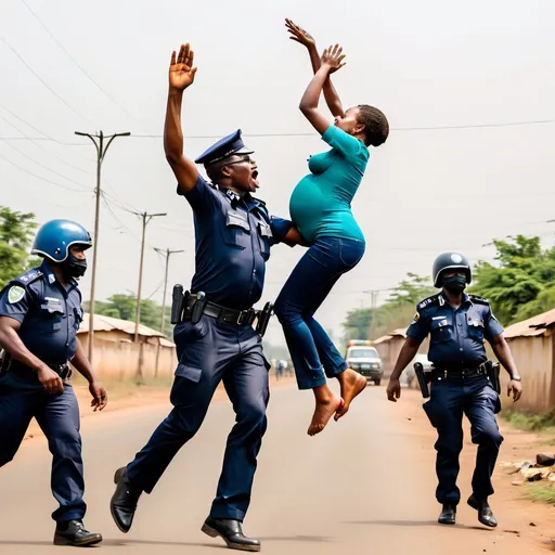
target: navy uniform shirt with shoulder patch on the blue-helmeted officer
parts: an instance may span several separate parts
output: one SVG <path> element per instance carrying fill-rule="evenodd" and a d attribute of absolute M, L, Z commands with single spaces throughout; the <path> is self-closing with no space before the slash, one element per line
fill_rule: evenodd
<path fill-rule="evenodd" d="M 64 287 L 44 260 L 0 292 L 0 317 L 22 324 L 18 335 L 35 357 L 47 364 L 63 364 L 77 348 L 81 293 L 75 280 Z"/>

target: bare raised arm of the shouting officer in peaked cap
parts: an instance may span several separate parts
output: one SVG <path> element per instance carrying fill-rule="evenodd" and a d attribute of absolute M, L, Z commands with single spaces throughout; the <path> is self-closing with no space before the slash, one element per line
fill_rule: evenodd
<path fill-rule="evenodd" d="M 181 129 L 181 104 L 183 91 L 193 83 L 196 67 L 193 67 L 194 52 L 189 44 L 181 44 L 179 55 L 171 54 L 169 66 L 168 105 L 164 126 L 164 151 L 178 180 L 179 191 L 189 193 L 198 179 L 193 160 L 183 156 L 183 131 Z"/>

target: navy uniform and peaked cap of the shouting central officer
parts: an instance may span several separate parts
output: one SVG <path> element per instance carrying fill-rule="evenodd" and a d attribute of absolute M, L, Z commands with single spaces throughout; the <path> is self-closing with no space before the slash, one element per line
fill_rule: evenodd
<path fill-rule="evenodd" d="M 240 133 L 234 133 L 207 152 L 221 153 L 228 145 L 231 149 L 222 157 L 245 153 L 233 150 L 237 144 L 243 142 Z M 203 157 L 196 162 L 203 162 L 207 154 Z M 219 308 L 212 306 L 210 315 L 203 313 L 197 323 L 185 321 L 176 326 L 179 364 L 170 396 L 173 410 L 127 466 L 127 478 L 133 489 L 153 490 L 180 448 L 201 427 L 223 380 L 236 424 L 228 438 L 210 517 L 242 521 L 250 502 L 269 400 L 270 364 L 262 354 L 261 337 L 253 328 L 249 309 L 262 294 L 270 246 L 286 235 L 292 223 L 271 218 L 264 203 L 249 194 L 241 197 L 202 177 L 184 196 L 194 211 L 196 237 L 191 291 L 205 293 Z M 113 501 L 116 509 L 118 502 Z"/>

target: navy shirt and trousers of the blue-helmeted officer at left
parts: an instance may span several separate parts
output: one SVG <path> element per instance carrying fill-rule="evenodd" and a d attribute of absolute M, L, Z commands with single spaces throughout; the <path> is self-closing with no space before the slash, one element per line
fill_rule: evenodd
<path fill-rule="evenodd" d="M 76 350 L 82 320 L 81 294 L 75 280 L 64 287 L 44 260 L 10 282 L 0 293 L 0 315 L 17 320 L 25 347 L 50 367 L 64 372 Z M 83 475 L 79 408 L 67 380 L 64 392 L 48 393 L 36 374 L 5 353 L 0 377 L 0 466 L 17 452 L 33 417 L 48 438 L 53 455 L 52 493 L 60 507 L 56 521 L 81 519 Z"/>

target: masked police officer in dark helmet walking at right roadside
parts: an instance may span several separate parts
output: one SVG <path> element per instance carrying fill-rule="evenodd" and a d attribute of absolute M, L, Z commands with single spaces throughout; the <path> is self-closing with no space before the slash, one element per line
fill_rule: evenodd
<path fill-rule="evenodd" d="M 490 304 L 464 293 L 472 282 L 466 257 L 459 253 L 441 254 L 434 262 L 433 275 L 434 285 L 441 287 L 441 292 L 417 305 L 387 387 L 387 397 L 396 401 L 401 396 L 399 377 L 430 334 L 428 359 L 434 370 L 430 400 L 424 403 L 424 410 L 438 431 L 436 498 L 442 504 L 438 521 L 455 524 L 461 499 L 456 478 L 465 414 L 470 421 L 473 442 L 478 444 L 468 504 L 478 512 L 482 525 L 493 528 L 498 522 L 488 496 L 493 494 L 491 476 L 503 438 L 495 422 L 501 402 L 485 371 L 485 339 L 511 376 L 507 395 L 513 395 L 514 401 L 521 396 L 520 376 Z"/>

